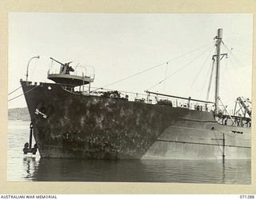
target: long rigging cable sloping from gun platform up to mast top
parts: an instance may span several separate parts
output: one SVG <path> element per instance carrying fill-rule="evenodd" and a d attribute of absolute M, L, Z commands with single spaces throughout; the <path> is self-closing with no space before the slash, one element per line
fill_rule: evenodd
<path fill-rule="evenodd" d="M 198 48 L 195 49 L 195 50 L 190 50 L 190 51 L 187 52 L 186 54 L 182 54 L 182 55 L 180 55 L 180 56 L 178 56 L 178 57 L 175 57 L 175 58 L 172 58 L 172 59 L 170 59 L 170 60 L 168 60 L 168 61 L 166 61 L 166 62 L 172 62 L 172 61 L 174 61 L 174 60 L 176 60 L 176 59 L 178 59 L 178 58 L 182 58 L 182 57 L 186 56 L 187 54 L 190 54 L 190 53 L 192 53 L 192 52 L 195 52 L 195 51 L 197 51 L 197 50 L 200 50 L 200 49 L 202 49 L 203 47 L 209 46 L 210 44 L 211 44 L 211 42 L 208 43 L 208 44 L 206 44 L 206 45 L 204 45 L 204 46 L 200 46 L 200 47 L 198 47 Z M 162 66 L 162 65 L 166 64 L 166 62 L 162 62 L 161 64 L 158 64 L 158 65 L 156 65 L 156 66 L 151 66 L 150 68 L 148 68 L 148 69 L 146 69 L 146 70 L 142 70 L 142 71 L 140 71 L 140 72 L 138 72 L 138 73 L 131 74 L 130 76 L 128 76 L 128 77 L 126 77 L 126 78 L 118 79 L 118 80 L 115 81 L 115 82 L 111 82 L 111 83 L 109 83 L 109 84 L 107 84 L 107 85 L 105 85 L 105 86 L 98 87 L 98 88 L 95 89 L 95 90 L 100 90 L 100 89 L 102 89 L 103 87 L 111 86 L 111 85 L 114 85 L 115 83 L 125 81 L 125 80 L 128 79 L 128 78 L 132 78 L 132 77 L 137 76 L 137 75 L 139 75 L 139 74 L 143 74 L 143 73 L 145 73 L 146 71 L 153 70 L 153 69 L 155 69 L 155 68 L 158 68 L 159 66 Z M 95 90 L 93 90 L 93 91 L 95 91 Z M 92 91 L 92 92 L 93 92 L 93 91 Z"/>

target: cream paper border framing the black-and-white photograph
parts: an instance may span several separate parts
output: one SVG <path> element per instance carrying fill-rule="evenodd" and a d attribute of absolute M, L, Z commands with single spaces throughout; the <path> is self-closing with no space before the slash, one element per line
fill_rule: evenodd
<path fill-rule="evenodd" d="M 255 174 L 255 120 L 252 119 L 251 185 L 194 184 L 194 183 L 140 183 L 140 182 L 7 182 L 7 118 L 8 118 L 8 13 L 210 13 L 254 14 L 254 0 L 2 0 L 0 2 L 0 194 L 256 194 Z M 253 55 L 256 50 L 253 47 Z M 253 56 L 253 66 L 256 58 Z M 252 67 L 252 98 L 255 97 L 254 67 Z M 253 116 L 255 104 L 253 102 Z"/>

